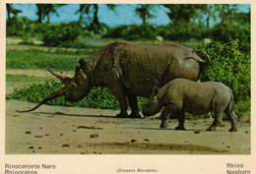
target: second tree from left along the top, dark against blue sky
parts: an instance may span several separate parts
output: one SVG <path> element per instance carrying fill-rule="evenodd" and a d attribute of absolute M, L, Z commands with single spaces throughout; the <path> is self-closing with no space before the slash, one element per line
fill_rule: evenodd
<path fill-rule="evenodd" d="M 37 22 L 42 23 L 42 20 L 44 20 L 44 18 L 46 17 L 47 23 L 50 23 L 51 15 L 55 14 L 57 17 L 59 17 L 57 9 L 64 5 L 65 4 L 36 4 L 36 15 L 38 16 Z"/>

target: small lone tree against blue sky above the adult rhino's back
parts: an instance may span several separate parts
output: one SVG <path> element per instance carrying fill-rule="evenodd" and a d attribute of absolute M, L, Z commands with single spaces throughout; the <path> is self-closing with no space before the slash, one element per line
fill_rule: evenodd
<path fill-rule="evenodd" d="M 135 9 L 135 13 L 142 19 L 143 25 L 146 24 L 146 21 L 148 19 L 152 19 L 155 17 L 151 13 L 151 10 L 155 7 L 156 5 L 152 4 L 139 4 L 138 7 Z"/>

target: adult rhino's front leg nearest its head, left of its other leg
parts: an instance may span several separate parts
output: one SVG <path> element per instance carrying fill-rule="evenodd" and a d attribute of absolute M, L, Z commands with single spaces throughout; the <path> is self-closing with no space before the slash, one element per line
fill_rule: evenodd
<path fill-rule="evenodd" d="M 126 100 L 126 93 L 124 87 L 121 83 L 110 83 L 111 87 L 109 89 L 113 93 L 113 95 L 117 98 L 119 105 L 120 105 L 120 113 L 116 115 L 118 118 L 128 118 L 127 114 L 127 100 Z"/>

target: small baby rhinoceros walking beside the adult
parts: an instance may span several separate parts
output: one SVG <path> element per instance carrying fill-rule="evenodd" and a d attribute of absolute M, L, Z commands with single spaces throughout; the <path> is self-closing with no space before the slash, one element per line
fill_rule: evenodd
<path fill-rule="evenodd" d="M 232 90 L 222 83 L 198 83 L 176 79 L 163 87 L 154 87 L 150 101 L 142 105 L 142 112 L 145 116 L 155 115 L 161 107 L 164 109 L 161 113 L 160 128 L 166 128 L 167 117 L 174 115 L 178 116 L 179 122 L 175 130 L 185 130 L 185 112 L 202 115 L 214 110 L 214 123 L 207 131 L 216 131 L 216 127 L 223 121 L 223 113 L 228 116 L 231 122 L 229 132 L 237 131 L 237 116 L 233 111 Z"/>

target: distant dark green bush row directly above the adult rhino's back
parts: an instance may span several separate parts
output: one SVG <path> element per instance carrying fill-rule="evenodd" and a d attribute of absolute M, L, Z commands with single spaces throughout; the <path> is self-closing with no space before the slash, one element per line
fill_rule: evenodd
<path fill-rule="evenodd" d="M 157 35 L 164 39 L 184 41 L 191 38 L 203 39 L 206 37 L 207 29 L 203 24 L 177 22 L 175 25 L 156 27 L 154 25 L 129 25 L 109 28 L 103 37 L 124 38 L 127 40 L 156 39 Z"/>

